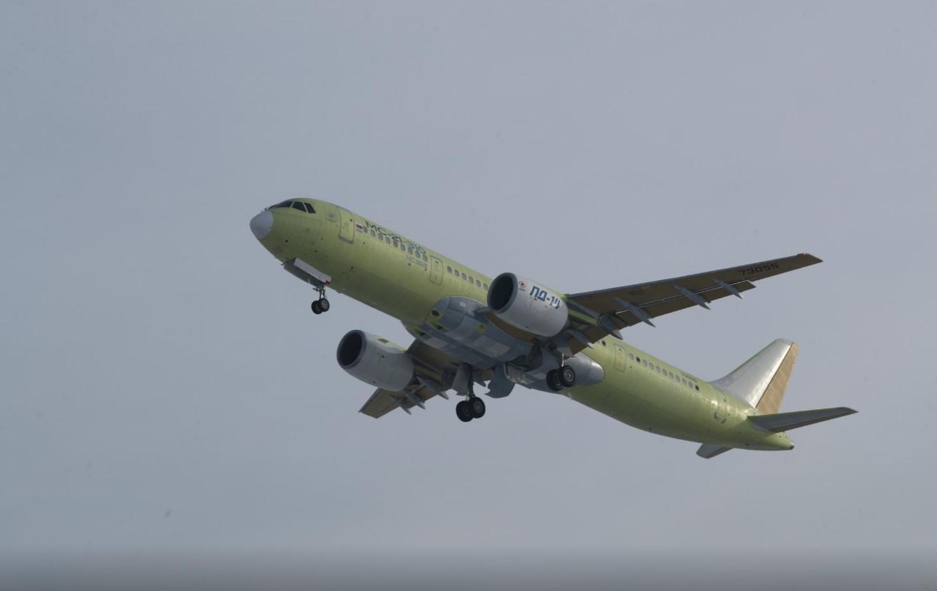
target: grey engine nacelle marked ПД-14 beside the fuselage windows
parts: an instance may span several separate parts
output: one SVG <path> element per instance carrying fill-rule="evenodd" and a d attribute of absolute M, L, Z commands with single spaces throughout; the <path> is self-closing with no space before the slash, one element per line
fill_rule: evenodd
<path fill-rule="evenodd" d="M 569 319 L 557 293 L 514 273 L 501 273 L 488 289 L 488 307 L 508 324 L 541 336 L 555 336 Z"/>

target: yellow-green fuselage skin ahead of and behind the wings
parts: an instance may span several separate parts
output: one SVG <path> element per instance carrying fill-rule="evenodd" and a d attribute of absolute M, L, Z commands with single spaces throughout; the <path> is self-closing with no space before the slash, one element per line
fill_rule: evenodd
<path fill-rule="evenodd" d="M 448 259 L 364 216 L 332 203 L 301 199 L 315 213 L 271 209 L 273 226 L 260 239 L 277 259 L 302 259 L 330 276 L 330 287 L 419 326 L 446 296 L 486 302 L 491 278 Z M 574 401 L 662 436 L 751 450 L 789 450 L 784 433 L 752 426 L 757 411 L 703 379 L 606 336 L 583 351 L 602 365 L 600 383 L 564 390 Z"/>

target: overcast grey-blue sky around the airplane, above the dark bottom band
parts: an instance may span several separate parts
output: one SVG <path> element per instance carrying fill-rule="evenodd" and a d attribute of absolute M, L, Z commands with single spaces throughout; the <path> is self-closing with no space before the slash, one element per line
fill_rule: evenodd
<path fill-rule="evenodd" d="M 932 3 L 0 4 L 0 555 L 937 551 Z M 802 347 L 732 451 L 515 389 L 359 414 L 247 222 L 342 204 L 565 292 L 825 262 L 625 334 Z M 548 252 L 532 240 L 552 241 Z M 933 581 L 933 579 L 931 579 Z"/>

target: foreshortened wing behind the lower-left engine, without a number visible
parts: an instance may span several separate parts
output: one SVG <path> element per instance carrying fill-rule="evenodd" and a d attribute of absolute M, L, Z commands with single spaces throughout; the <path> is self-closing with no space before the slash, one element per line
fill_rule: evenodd
<path fill-rule="evenodd" d="M 379 419 L 394 408 L 403 408 L 407 414 L 413 406 L 425 408 L 424 402 L 437 394 L 443 398 L 449 398 L 446 394 L 448 387 L 443 384 L 446 383 L 446 375 L 449 372 L 458 371 L 459 362 L 454 357 L 420 341 L 413 341 L 407 352 L 413 359 L 416 381 L 403 392 L 391 392 L 379 388 L 367 399 L 360 412 Z"/>

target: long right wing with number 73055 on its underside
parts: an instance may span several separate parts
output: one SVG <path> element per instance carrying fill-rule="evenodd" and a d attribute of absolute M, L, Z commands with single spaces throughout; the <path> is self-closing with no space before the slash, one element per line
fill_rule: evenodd
<path fill-rule="evenodd" d="M 813 255 L 795 255 L 784 259 L 765 260 L 739 267 L 720 269 L 639 283 L 621 288 L 600 289 L 567 295 L 567 305 L 578 330 L 573 351 L 582 350 L 606 334 L 620 335 L 620 329 L 645 322 L 654 326 L 652 318 L 684 308 L 708 303 L 726 296 L 742 297 L 753 289 L 752 281 L 765 279 L 822 262 Z"/>

